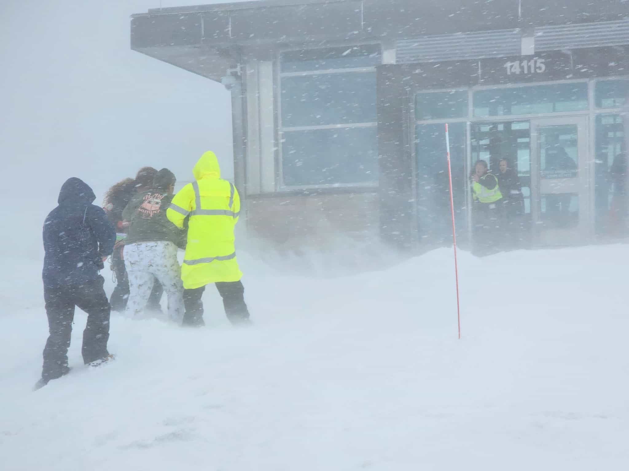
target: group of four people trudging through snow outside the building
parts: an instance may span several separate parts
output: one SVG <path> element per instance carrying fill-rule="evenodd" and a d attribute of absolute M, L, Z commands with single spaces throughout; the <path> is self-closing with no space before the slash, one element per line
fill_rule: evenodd
<path fill-rule="evenodd" d="M 82 356 L 86 365 L 113 359 L 109 354 L 111 310 L 138 317 L 161 310 L 179 325 L 204 325 L 201 296 L 214 283 L 234 325 L 250 323 L 234 247 L 240 197 L 220 178 L 216 155 L 208 151 L 193 169 L 194 181 L 174 194 L 175 175 L 144 167 L 135 179 L 109 189 L 104 207 L 79 178 L 65 181 L 58 206 L 43 226 L 43 285 L 50 335 L 43 350 L 42 377 L 35 389 L 70 371 L 75 306 L 87 313 Z M 184 249 L 179 266 L 177 249 Z M 116 287 L 108 300 L 99 271 L 111 257 Z"/>

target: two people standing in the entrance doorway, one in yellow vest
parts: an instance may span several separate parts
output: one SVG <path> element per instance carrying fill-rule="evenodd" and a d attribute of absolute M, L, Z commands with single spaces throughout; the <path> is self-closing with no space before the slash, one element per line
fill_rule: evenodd
<path fill-rule="evenodd" d="M 499 171 L 490 173 L 487 162 L 478 160 L 472 174 L 473 251 L 487 255 L 520 245 L 524 198 L 517 171 L 506 159 Z"/>

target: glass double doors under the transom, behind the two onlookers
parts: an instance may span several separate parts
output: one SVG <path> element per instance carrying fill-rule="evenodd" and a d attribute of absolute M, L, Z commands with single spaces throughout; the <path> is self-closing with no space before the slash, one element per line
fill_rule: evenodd
<path fill-rule="evenodd" d="M 586 116 L 476 122 L 470 131 L 470 168 L 484 160 L 501 183 L 505 246 L 591 236 Z"/>

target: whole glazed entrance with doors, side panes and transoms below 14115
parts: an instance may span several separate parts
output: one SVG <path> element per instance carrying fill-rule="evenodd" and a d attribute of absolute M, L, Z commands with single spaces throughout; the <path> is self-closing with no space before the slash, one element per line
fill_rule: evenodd
<path fill-rule="evenodd" d="M 629 80 L 597 78 L 470 89 L 418 90 L 415 114 L 420 241 L 451 239 L 443 124 L 457 238 L 473 239 L 471 175 L 486 161 L 498 177 L 505 248 L 566 246 L 626 237 L 625 129 Z M 499 249 L 500 247 L 496 247 Z"/>

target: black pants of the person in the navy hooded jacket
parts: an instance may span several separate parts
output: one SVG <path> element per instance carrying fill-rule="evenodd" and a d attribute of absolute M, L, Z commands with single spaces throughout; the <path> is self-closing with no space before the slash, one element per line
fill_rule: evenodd
<path fill-rule="evenodd" d="M 64 376 L 68 369 L 68 347 L 72 334 L 74 307 L 87 313 L 83 331 L 83 361 L 87 364 L 106 357 L 109 339 L 109 301 L 103 290 L 104 279 L 82 284 L 66 284 L 55 288 L 44 287 L 50 335 L 43 350 L 42 378 L 46 381 Z"/>

